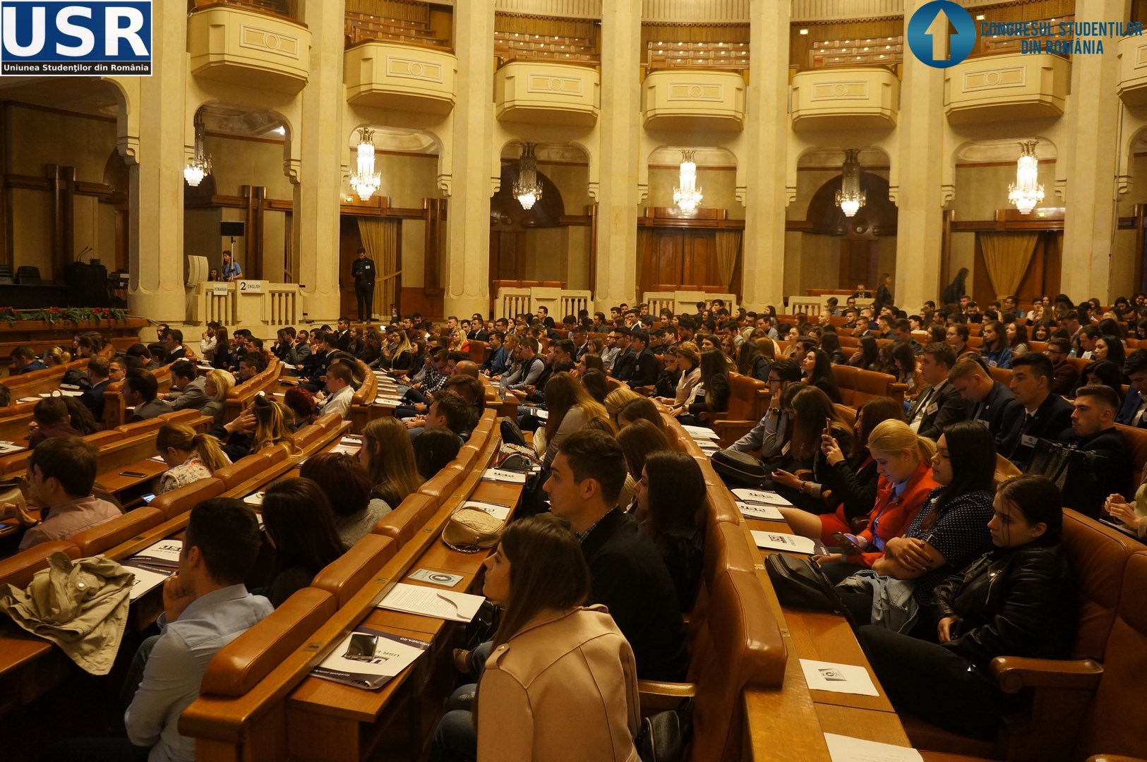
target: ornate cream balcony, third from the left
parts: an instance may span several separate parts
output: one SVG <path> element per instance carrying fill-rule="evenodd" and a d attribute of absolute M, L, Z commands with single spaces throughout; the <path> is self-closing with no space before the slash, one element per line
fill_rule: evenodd
<path fill-rule="evenodd" d="M 600 89 L 596 69 L 515 61 L 494 74 L 494 108 L 504 121 L 588 127 L 598 121 Z"/>

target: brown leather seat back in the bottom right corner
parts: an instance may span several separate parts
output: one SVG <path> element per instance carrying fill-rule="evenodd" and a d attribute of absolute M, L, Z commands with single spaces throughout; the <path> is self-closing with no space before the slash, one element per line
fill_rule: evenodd
<path fill-rule="evenodd" d="M 1076 759 L 1090 754 L 1142 757 L 1142 706 L 1147 702 L 1147 552 L 1128 559 L 1123 591 L 1111 623 L 1103 676 L 1079 733 Z"/>

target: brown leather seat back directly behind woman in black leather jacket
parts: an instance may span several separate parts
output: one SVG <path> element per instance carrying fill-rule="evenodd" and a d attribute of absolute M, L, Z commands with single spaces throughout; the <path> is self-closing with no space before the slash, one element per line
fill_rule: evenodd
<path fill-rule="evenodd" d="M 1123 592 L 1128 558 L 1141 550 L 1142 544 L 1070 509 L 1063 511 L 1062 544 L 1075 575 L 1079 603 L 1071 658 L 1102 662 Z"/>

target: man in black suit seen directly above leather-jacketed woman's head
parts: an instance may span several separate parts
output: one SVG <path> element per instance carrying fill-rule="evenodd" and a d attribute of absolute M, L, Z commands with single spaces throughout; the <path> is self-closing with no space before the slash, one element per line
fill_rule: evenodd
<path fill-rule="evenodd" d="M 1052 393 L 1052 361 L 1038 352 L 1012 361 L 1012 393 L 1024 408 L 1022 425 L 1005 433 L 1000 455 L 1027 469 L 1040 439 L 1060 440 L 1071 426 L 1071 404 Z"/>

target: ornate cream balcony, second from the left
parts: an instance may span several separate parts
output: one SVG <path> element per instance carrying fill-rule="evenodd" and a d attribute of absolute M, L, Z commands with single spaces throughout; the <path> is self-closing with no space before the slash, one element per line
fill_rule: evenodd
<path fill-rule="evenodd" d="M 379 108 L 448 113 L 454 108 L 458 58 L 397 42 L 360 42 L 343 54 L 346 100 Z"/>

